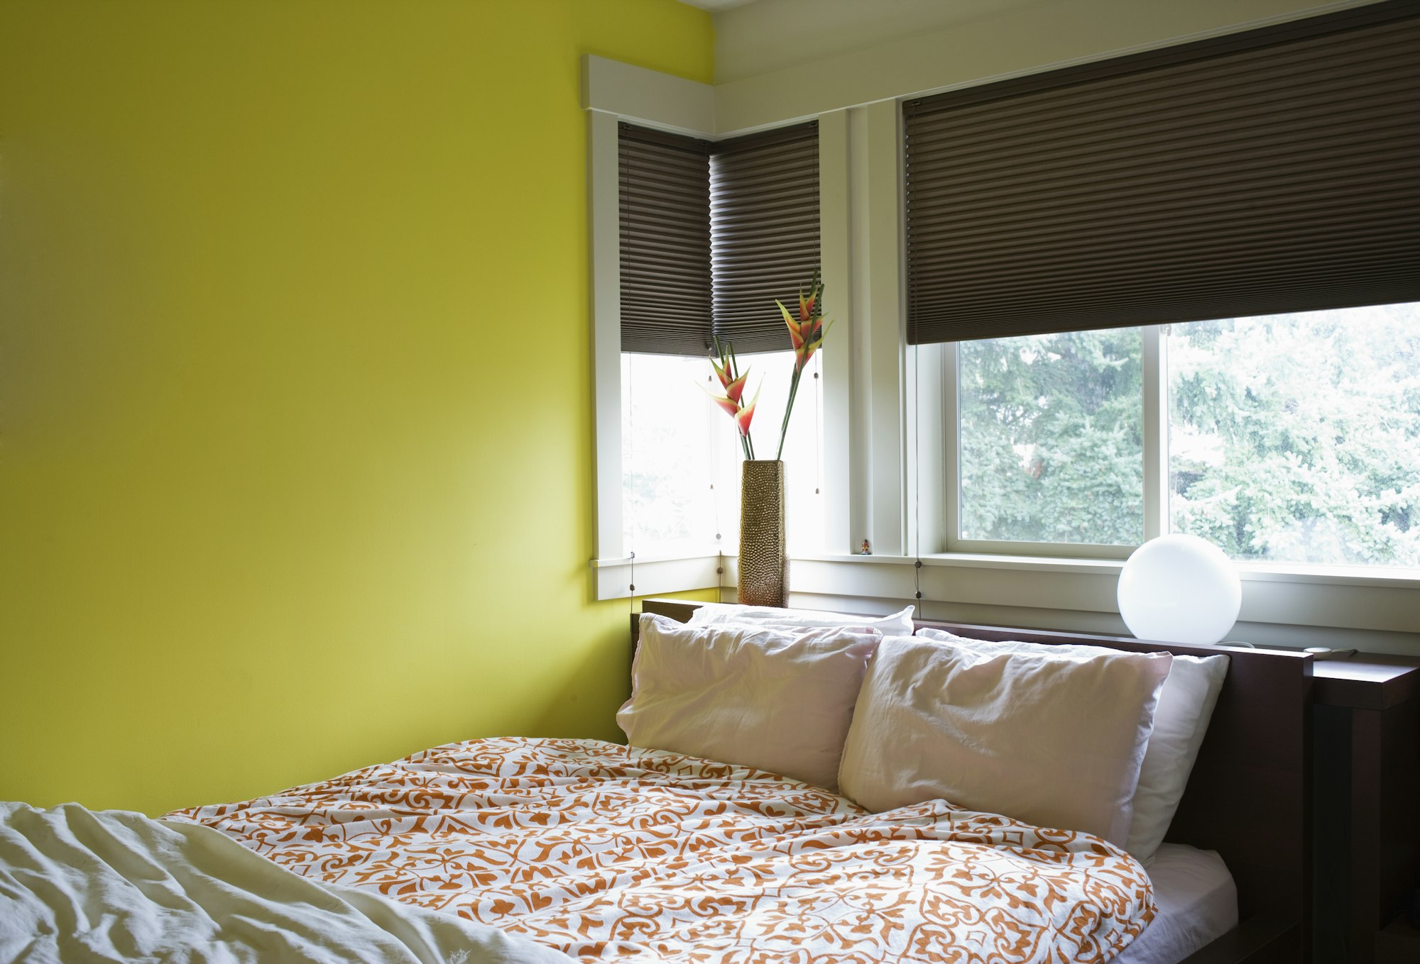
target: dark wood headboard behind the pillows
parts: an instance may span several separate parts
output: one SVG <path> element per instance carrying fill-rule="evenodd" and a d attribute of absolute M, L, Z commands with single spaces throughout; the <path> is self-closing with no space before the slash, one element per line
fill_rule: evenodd
<path fill-rule="evenodd" d="M 684 622 L 696 602 L 646 600 L 643 611 Z M 1132 637 L 1041 632 L 956 622 L 916 622 L 977 639 L 1083 644 L 1133 652 L 1230 658 L 1208 734 L 1169 841 L 1217 851 L 1238 887 L 1244 921 L 1235 950 L 1250 941 L 1268 960 L 1304 960 L 1311 920 L 1311 686 L 1312 658 L 1285 649 L 1181 646 Z M 632 638 L 636 638 L 632 617 Z M 1250 929 L 1248 923 L 1254 921 Z M 1250 936 L 1251 934 L 1251 936 Z M 1213 946 L 1210 946 L 1211 948 Z M 1197 960 L 1213 960 L 1203 957 Z M 1190 958 L 1193 960 L 1193 958 Z M 1221 958 L 1220 958 L 1221 960 Z M 1247 953 L 1228 960 L 1248 960 Z"/>

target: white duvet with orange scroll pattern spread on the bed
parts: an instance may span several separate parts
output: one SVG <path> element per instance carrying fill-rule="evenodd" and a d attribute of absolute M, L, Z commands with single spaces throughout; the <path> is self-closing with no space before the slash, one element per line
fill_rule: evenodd
<path fill-rule="evenodd" d="M 588 961 L 1106 961 L 1154 913 L 1085 834 L 598 740 L 470 740 L 173 817 Z"/>

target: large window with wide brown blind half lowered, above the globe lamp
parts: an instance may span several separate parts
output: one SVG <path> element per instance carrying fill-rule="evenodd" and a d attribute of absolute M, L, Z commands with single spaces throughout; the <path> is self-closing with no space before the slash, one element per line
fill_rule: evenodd
<path fill-rule="evenodd" d="M 947 550 L 1420 566 L 1417 52 L 1369 4 L 903 102 Z"/>

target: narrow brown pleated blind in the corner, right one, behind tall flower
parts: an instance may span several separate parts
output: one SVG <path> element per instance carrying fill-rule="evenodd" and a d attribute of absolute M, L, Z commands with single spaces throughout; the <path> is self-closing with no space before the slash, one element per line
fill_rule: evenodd
<path fill-rule="evenodd" d="M 710 225 L 716 335 L 736 352 L 790 350 L 774 301 L 797 305 L 819 265 L 818 122 L 717 142 Z"/>

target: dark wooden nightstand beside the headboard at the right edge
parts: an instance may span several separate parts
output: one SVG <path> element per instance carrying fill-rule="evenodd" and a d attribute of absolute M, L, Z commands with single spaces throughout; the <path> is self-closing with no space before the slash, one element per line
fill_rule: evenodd
<path fill-rule="evenodd" d="M 1397 914 L 1420 873 L 1420 659 L 1319 659 L 1312 679 L 1312 960 L 1413 964 L 1420 941 Z"/>

